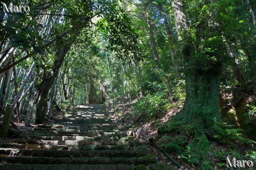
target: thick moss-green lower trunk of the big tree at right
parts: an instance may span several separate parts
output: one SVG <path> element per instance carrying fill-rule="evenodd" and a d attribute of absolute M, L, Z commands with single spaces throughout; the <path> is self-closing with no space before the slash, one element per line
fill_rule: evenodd
<path fill-rule="evenodd" d="M 220 69 L 220 65 L 209 71 L 187 68 L 186 100 L 180 113 L 183 122 L 204 129 L 211 128 L 214 121 L 220 122 Z"/>

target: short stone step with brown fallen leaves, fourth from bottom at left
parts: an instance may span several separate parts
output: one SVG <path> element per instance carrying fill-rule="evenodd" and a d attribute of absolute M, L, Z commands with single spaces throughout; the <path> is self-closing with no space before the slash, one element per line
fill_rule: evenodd
<path fill-rule="evenodd" d="M 15 148 L 15 149 L 44 149 L 44 150 L 67 150 L 67 146 L 60 145 L 38 145 L 38 144 L 2 144 L 0 148 Z"/>

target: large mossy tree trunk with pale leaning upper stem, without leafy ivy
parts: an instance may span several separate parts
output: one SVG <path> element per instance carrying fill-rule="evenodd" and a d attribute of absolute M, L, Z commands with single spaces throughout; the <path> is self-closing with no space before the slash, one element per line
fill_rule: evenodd
<path fill-rule="evenodd" d="M 181 54 L 185 67 L 186 99 L 178 117 L 182 122 L 201 129 L 211 129 L 214 120 L 220 122 L 219 84 L 221 63 L 207 65 L 208 69 L 196 66 L 201 63 L 195 58 L 195 48 L 188 30 L 185 8 L 179 0 L 172 2 L 176 29 L 181 44 Z M 192 62 L 194 61 L 194 62 Z M 206 67 L 206 66 L 205 66 Z"/>

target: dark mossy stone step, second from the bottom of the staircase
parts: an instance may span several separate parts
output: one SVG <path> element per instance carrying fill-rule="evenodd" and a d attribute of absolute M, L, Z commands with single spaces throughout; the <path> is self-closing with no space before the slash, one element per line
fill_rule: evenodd
<path fill-rule="evenodd" d="M 10 164 L 45 164 L 45 165 L 79 165 L 79 164 L 90 164 L 90 165 L 138 165 L 145 164 L 149 165 L 151 159 L 140 159 L 137 157 L 125 158 L 125 157 L 79 157 L 79 158 L 54 158 L 54 157 L 0 157 L 0 162 Z"/>

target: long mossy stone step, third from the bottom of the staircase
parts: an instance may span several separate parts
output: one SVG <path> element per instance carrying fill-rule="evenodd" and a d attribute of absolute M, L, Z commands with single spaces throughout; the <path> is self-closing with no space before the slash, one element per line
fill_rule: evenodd
<path fill-rule="evenodd" d="M 142 157 L 147 155 L 147 151 L 141 152 L 134 149 L 129 150 L 31 150 L 31 149 L 12 149 L 0 148 L 2 155 L 18 155 L 33 157 L 54 157 L 54 158 L 79 158 L 79 157 Z"/>

